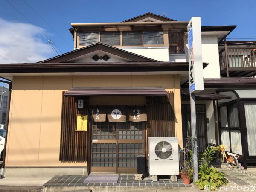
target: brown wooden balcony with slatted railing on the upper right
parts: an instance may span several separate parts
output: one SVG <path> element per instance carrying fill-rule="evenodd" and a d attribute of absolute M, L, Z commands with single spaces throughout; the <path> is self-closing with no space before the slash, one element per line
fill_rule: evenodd
<path fill-rule="evenodd" d="M 256 46 L 232 46 L 219 52 L 221 76 L 251 77 L 256 75 Z"/>

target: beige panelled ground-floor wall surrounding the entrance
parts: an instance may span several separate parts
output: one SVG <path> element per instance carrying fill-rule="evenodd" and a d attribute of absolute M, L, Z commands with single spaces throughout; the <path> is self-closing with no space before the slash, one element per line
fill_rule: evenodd
<path fill-rule="evenodd" d="M 84 163 L 59 161 L 62 91 L 71 87 L 154 86 L 175 92 L 175 129 L 182 146 L 180 76 L 15 76 L 6 166 L 86 166 Z M 143 96 L 127 99 L 131 104 L 145 103 Z M 101 98 L 100 104 L 108 102 L 113 102 L 113 97 Z"/>

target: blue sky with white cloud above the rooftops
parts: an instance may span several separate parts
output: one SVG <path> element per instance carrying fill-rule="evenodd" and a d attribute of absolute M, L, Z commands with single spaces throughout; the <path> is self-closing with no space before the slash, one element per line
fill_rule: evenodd
<path fill-rule="evenodd" d="M 256 38 L 253 19 L 256 0 L 8 1 L 1 0 L 0 6 L 0 55 L 10 61 L 0 57 L 0 63 L 36 62 L 54 57 L 55 52 L 47 43 L 46 36 L 58 47 L 59 53 L 72 51 L 70 23 L 121 22 L 147 12 L 165 14 L 178 21 L 201 17 L 202 26 L 237 25 L 228 38 Z"/>

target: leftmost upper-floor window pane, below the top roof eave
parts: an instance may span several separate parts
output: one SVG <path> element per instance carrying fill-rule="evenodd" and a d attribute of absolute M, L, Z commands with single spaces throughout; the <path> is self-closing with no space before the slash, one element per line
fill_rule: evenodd
<path fill-rule="evenodd" d="M 99 42 L 99 32 L 79 33 L 79 45 L 91 45 Z"/>

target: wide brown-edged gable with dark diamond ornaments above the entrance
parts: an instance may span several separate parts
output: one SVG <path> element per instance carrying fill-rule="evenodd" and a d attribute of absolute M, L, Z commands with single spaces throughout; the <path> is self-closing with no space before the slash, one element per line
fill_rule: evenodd
<path fill-rule="evenodd" d="M 143 57 L 116 47 L 96 43 L 38 63 L 104 63 L 147 62 L 157 60 Z"/>

